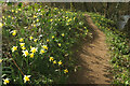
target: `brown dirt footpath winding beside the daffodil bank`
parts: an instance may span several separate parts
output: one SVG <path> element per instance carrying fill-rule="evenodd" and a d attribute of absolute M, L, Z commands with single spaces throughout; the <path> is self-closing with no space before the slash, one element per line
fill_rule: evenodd
<path fill-rule="evenodd" d="M 110 66 L 105 34 L 98 29 L 89 15 L 84 16 L 94 37 L 93 41 L 81 44 L 82 46 L 76 55 L 81 69 L 70 76 L 69 84 L 109 84 Z"/>

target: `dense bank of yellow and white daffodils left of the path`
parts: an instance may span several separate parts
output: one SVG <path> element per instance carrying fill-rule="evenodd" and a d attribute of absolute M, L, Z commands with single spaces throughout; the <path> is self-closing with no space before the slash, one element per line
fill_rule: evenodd
<path fill-rule="evenodd" d="M 64 83 L 72 46 L 88 34 L 81 13 L 38 3 L 3 11 L 3 84 Z"/>

